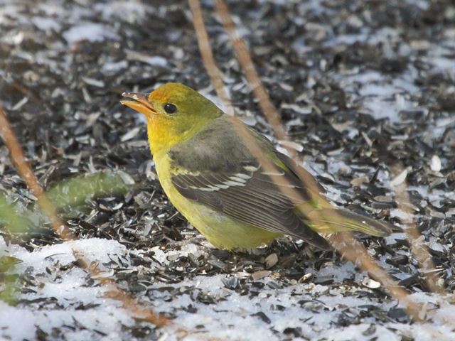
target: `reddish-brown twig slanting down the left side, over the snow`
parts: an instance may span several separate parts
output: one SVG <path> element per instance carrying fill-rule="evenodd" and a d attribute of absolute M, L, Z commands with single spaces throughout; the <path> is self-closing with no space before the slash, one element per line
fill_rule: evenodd
<path fill-rule="evenodd" d="M 48 199 L 48 196 L 45 194 L 45 191 L 41 187 L 40 183 L 38 183 L 38 179 L 26 161 L 21 145 L 18 143 L 9 120 L 6 118 L 6 114 L 3 107 L 1 106 L 1 103 L 0 134 L 9 149 L 11 161 L 13 161 L 19 175 L 21 175 L 23 180 L 26 182 L 26 185 L 31 190 L 31 193 L 33 193 L 33 195 L 38 198 L 38 205 L 41 207 L 41 210 L 43 210 L 44 215 L 50 220 L 50 224 L 53 230 L 62 239 L 75 240 L 75 235 L 70 231 L 70 229 L 68 229 L 65 222 L 63 222 L 63 220 L 60 220 L 58 217 L 55 207 Z M 107 286 L 109 289 L 107 291 L 109 297 L 114 298 L 117 301 L 121 301 L 125 309 L 131 311 L 134 315 L 141 318 L 142 320 L 154 323 L 154 325 L 159 327 L 169 323 L 169 320 L 167 318 L 154 313 L 154 311 L 152 311 L 150 308 L 145 307 L 143 303 L 137 302 L 128 293 L 122 291 L 122 289 L 117 286 L 112 278 L 100 277 L 99 275 L 101 271 L 97 266 L 89 266 L 80 255 L 76 256 L 76 259 L 79 262 L 80 266 L 85 269 L 85 271 L 87 271 L 92 276 L 92 278 L 100 281 L 103 286 Z"/>

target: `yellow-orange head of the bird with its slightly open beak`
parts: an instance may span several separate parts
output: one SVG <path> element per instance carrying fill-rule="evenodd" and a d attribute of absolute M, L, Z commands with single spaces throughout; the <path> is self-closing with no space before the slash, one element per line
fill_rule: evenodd
<path fill-rule="evenodd" d="M 133 100 L 120 101 L 147 119 L 152 153 L 166 152 L 173 145 L 191 139 L 223 112 L 191 87 L 168 83 L 147 94 L 125 92 Z"/>

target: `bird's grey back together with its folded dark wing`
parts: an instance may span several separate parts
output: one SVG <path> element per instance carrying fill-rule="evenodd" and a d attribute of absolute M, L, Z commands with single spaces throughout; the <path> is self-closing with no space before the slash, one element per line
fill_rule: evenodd
<path fill-rule="evenodd" d="M 329 249 L 326 239 L 294 212 L 296 204 L 309 200 L 294 161 L 251 130 L 262 150 L 278 165 L 272 173 L 265 172 L 238 136 L 232 119 L 223 115 L 188 142 L 171 148 L 171 181 L 178 192 L 240 222 Z M 289 184 L 298 197 L 284 194 Z"/>

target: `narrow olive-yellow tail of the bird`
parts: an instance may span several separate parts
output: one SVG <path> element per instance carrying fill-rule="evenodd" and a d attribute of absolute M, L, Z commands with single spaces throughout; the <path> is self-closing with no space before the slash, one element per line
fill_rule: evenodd
<path fill-rule="evenodd" d="M 387 222 L 335 208 L 315 210 L 309 215 L 309 220 L 309 226 L 320 233 L 358 231 L 385 237 L 396 229 Z"/>

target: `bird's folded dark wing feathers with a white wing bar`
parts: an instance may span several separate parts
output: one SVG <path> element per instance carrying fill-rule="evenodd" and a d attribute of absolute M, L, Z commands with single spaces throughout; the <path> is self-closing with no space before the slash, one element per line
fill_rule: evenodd
<path fill-rule="evenodd" d="M 326 240 L 294 212 L 296 204 L 302 202 L 301 198 L 291 200 L 280 190 L 280 187 L 285 186 L 280 178 L 287 178 L 286 183 L 295 183 L 293 175 L 284 171 L 269 175 L 260 166 L 257 166 L 256 171 L 244 170 L 244 173 L 176 173 L 171 180 L 183 196 L 240 222 L 291 234 L 322 249 L 329 248 Z M 301 185 L 292 187 L 305 193 Z"/>

